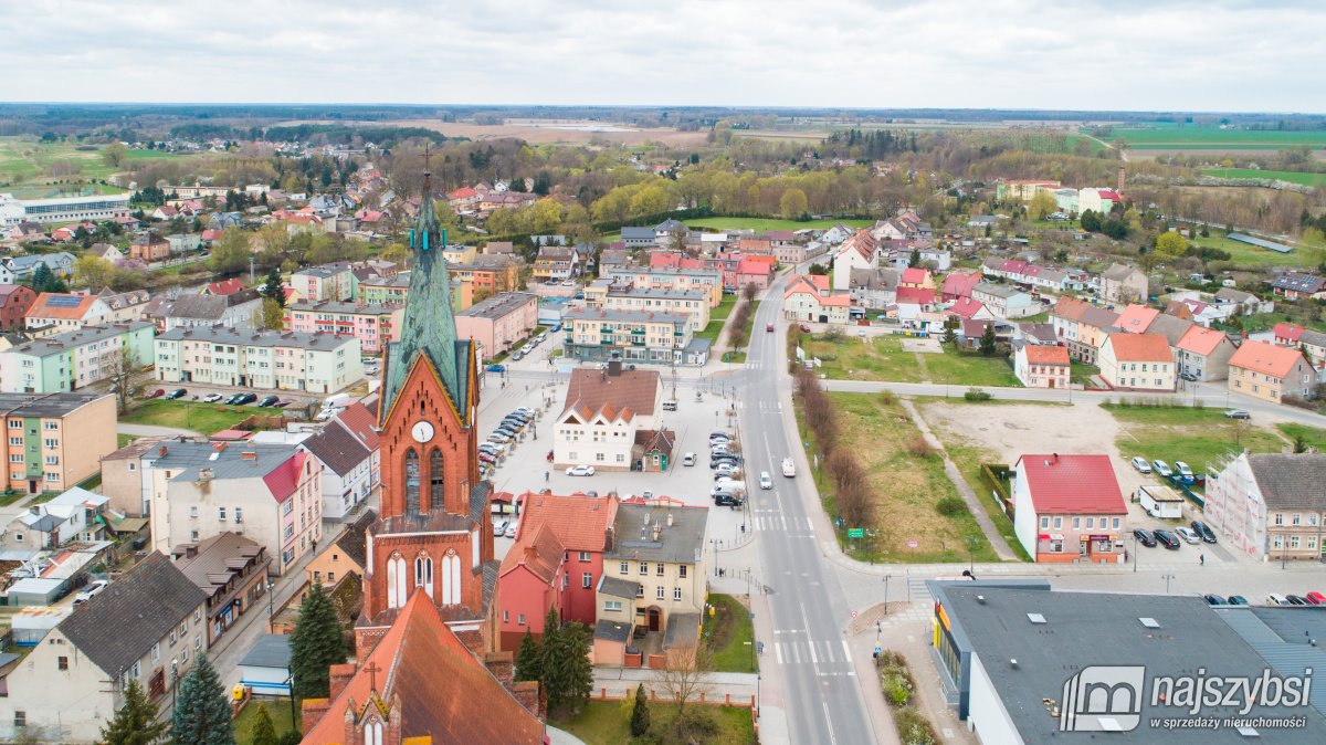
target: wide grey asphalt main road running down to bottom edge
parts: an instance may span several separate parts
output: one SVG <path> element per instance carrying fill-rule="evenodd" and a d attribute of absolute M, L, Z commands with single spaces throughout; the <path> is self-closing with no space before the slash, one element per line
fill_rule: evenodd
<path fill-rule="evenodd" d="M 761 664 L 777 667 L 782 707 L 786 711 L 788 741 L 830 744 L 875 742 L 871 720 L 858 687 L 855 668 L 843 628 L 850 607 L 838 582 L 819 553 L 814 538 L 817 525 L 810 509 L 819 509 L 814 483 L 804 471 L 797 433 L 790 412 L 784 414 L 790 378 L 784 372 L 780 343 L 782 333 L 765 331 L 774 323 L 780 331 L 780 298 L 785 280 L 769 292 L 769 302 L 756 313 L 747 370 L 737 384 L 743 447 L 751 472 L 769 471 L 773 490 L 752 490 L 753 514 L 765 520 L 758 533 L 760 571 L 769 587 L 769 627 Z M 781 461 L 792 456 L 798 475 L 781 475 Z"/>

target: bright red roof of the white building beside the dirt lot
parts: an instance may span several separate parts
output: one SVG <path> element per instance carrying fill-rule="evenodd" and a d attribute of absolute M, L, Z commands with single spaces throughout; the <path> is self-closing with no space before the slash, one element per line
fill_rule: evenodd
<path fill-rule="evenodd" d="M 1037 514 L 1128 513 L 1107 455 L 1024 455 L 1017 464 Z"/>

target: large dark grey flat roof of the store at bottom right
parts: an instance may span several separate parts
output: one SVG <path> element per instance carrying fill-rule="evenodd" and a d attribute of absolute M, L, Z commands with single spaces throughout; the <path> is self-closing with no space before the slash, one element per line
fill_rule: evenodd
<path fill-rule="evenodd" d="M 1004 711 L 1026 742 L 1062 737 L 1059 718 L 1045 700 L 1062 704 L 1067 680 L 1093 665 L 1140 665 L 1154 683 L 1160 676 L 1197 675 L 1207 679 L 1256 679 L 1266 661 L 1200 597 L 1066 593 L 992 587 L 977 583 L 930 583 L 949 619 L 959 646 L 980 659 Z M 1040 614 L 1045 623 L 1033 623 Z M 1156 627 L 1140 619 L 1154 619 Z M 1017 660 L 1017 664 L 1012 664 Z M 1144 684 L 1146 685 L 1146 684 Z M 1245 742 L 1235 729 L 1150 729 L 1151 717 L 1188 717 L 1188 709 L 1152 705 L 1143 691 L 1142 718 L 1135 730 L 1110 733 L 1111 742 Z M 1284 708 L 1254 705 L 1203 707 L 1207 717 L 1284 717 Z M 1321 742 L 1326 720 L 1313 709 L 1293 709 L 1306 718 L 1298 729 L 1258 728 L 1270 742 Z"/>

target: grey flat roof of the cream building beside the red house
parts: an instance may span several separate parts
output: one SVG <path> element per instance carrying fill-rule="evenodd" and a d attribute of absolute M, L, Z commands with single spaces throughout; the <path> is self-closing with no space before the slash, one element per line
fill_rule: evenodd
<path fill-rule="evenodd" d="M 668 517 L 672 525 L 668 525 Z M 617 508 L 613 530 L 617 544 L 611 558 L 695 563 L 704 554 L 709 508 L 655 506 L 623 502 Z M 658 540 L 654 529 L 659 528 Z M 642 537 L 643 536 L 643 537 Z"/>

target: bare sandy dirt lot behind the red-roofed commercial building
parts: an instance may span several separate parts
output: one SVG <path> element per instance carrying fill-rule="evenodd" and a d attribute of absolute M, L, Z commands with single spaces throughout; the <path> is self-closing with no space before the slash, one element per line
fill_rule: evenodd
<path fill-rule="evenodd" d="M 964 439 L 996 455 L 998 463 L 1013 465 L 1024 453 L 1106 453 L 1114 460 L 1114 475 L 1124 496 L 1146 483 L 1114 444 L 1120 432 L 1119 424 L 1094 403 L 1077 403 L 1069 410 L 1041 404 L 937 402 L 924 406 L 922 415 L 940 439 Z"/>

